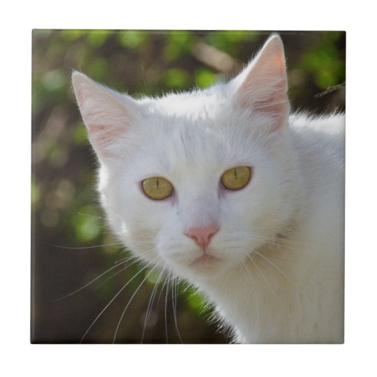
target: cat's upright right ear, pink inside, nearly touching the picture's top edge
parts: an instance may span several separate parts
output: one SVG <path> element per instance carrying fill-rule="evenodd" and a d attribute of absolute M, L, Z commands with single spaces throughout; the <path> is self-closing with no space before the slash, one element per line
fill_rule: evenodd
<path fill-rule="evenodd" d="M 272 117 L 272 130 L 286 124 L 290 105 L 286 58 L 278 35 L 270 37 L 245 70 L 235 78 L 236 101 L 241 107 Z"/>

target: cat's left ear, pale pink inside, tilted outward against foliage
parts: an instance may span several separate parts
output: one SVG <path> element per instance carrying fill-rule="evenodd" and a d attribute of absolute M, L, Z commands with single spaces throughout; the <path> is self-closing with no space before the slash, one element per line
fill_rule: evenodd
<path fill-rule="evenodd" d="M 104 161 L 117 156 L 114 145 L 133 122 L 133 100 L 79 72 L 73 72 L 72 84 L 89 141 L 98 158 Z"/>

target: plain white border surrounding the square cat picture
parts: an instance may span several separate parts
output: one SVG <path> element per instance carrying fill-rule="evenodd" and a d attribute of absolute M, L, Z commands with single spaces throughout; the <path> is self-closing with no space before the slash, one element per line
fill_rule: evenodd
<path fill-rule="evenodd" d="M 137 2 L 138 0 L 133 0 Z M 265 4 L 259 4 L 263 3 Z M 358 1 L 8 2 L 1 35 L 0 369 L 28 376 L 369 374 L 376 341 L 375 10 Z M 360 20 L 362 24 L 358 24 Z M 63 346 L 29 344 L 31 29 L 347 31 L 346 344 Z M 3 85 L 5 83 L 5 86 Z M 373 111 L 373 112 L 372 112 Z M 5 117 L 4 117 L 5 115 Z"/>

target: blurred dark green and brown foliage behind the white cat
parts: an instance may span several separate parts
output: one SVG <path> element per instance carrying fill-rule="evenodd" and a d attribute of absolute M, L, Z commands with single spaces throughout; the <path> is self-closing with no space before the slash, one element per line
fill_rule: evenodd
<path fill-rule="evenodd" d="M 207 87 L 238 73 L 270 34 L 33 31 L 33 343 L 112 343 L 127 305 L 116 343 L 230 341 L 226 329 L 211 319 L 212 309 L 204 305 L 199 293 L 182 283 L 177 288 L 164 281 L 156 283 L 158 274 L 151 274 L 142 283 L 148 269 L 140 272 L 142 266 L 132 264 L 132 260 L 125 269 L 125 264 L 119 262 L 131 254 L 112 237 L 98 205 L 96 158 L 87 142 L 70 77 L 73 69 L 82 71 L 108 87 L 136 97 Z M 345 110 L 342 84 L 346 34 L 279 34 L 286 49 L 293 110 L 309 110 L 313 114 Z M 326 92 L 329 87 L 336 88 Z M 121 290 L 130 279 L 133 280 Z"/>

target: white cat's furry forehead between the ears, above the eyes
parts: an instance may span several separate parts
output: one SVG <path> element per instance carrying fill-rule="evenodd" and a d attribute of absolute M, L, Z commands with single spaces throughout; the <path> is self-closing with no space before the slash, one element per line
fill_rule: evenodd
<path fill-rule="evenodd" d="M 252 162 L 250 119 L 218 90 L 145 98 L 137 161 L 140 175 L 211 175 Z"/>

